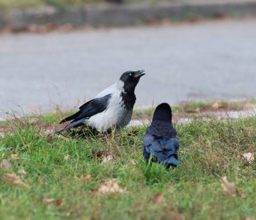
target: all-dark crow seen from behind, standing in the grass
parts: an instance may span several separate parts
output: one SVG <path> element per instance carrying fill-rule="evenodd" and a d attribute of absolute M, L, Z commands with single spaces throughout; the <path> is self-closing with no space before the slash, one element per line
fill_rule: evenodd
<path fill-rule="evenodd" d="M 143 139 L 143 154 L 146 162 L 152 155 L 153 161 L 164 164 L 167 168 L 181 164 L 178 161 L 179 140 L 172 127 L 170 105 L 162 103 L 156 107 L 153 120 Z"/>

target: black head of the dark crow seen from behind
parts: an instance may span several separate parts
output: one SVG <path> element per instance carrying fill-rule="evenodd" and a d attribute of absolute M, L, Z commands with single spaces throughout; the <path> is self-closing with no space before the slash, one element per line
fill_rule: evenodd
<path fill-rule="evenodd" d="M 170 109 L 170 105 L 167 103 L 158 105 L 154 112 L 152 121 L 166 121 L 172 123 L 172 109 Z"/>

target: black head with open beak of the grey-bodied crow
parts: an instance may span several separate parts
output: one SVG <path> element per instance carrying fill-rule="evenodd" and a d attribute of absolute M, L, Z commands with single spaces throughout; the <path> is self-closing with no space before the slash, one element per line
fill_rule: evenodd
<path fill-rule="evenodd" d="M 139 78 L 143 75 L 145 70 L 137 71 L 127 71 L 122 74 L 120 80 L 124 83 L 125 92 L 134 92 L 137 83 L 139 83 Z"/>

